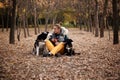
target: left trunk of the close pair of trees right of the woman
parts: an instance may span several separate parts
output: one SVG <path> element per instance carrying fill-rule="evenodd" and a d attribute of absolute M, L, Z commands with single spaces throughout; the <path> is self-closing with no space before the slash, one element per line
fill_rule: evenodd
<path fill-rule="evenodd" d="M 96 6 L 95 6 L 95 37 L 98 37 L 99 35 L 99 21 L 98 21 L 98 1 L 95 0 Z"/>

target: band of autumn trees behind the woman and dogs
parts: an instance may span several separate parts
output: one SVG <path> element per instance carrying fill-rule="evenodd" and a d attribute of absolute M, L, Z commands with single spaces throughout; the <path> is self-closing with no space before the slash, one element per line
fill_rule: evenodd
<path fill-rule="evenodd" d="M 104 37 L 104 30 L 114 32 L 113 43 L 119 42 L 120 25 L 119 0 L 0 0 L 0 24 L 2 31 L 10 28 L 9 43 L 15 42 L 15 30 L 20 40 L 21 29 L 24 37 L 30 36 L 29 28 L 40 33 L 41 25 L 45 31 L 55 23 L 63 26 L 85 28 Z"/>

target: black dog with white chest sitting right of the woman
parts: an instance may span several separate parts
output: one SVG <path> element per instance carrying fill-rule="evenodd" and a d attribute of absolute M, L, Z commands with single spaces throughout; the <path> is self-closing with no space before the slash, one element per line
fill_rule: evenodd
<path fill-rule="evenodd" d="M 73 50 L 73 45 L 72 45 L 73 40 L 72 39 L 67 39 L 65 40 L 65 53 L 67 56 L 74 55 L 75 52 Z"/>

